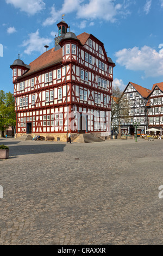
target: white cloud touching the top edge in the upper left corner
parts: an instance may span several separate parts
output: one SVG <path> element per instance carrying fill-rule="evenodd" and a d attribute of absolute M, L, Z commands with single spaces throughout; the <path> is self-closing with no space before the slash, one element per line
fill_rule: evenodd
<path fill-rule="evenodd" d="M 14 5 L 15 8 L 25 11 L 30 15 L 34 15 L 45 9 L 43 0 L 5 0 L 5 2 Z"/>

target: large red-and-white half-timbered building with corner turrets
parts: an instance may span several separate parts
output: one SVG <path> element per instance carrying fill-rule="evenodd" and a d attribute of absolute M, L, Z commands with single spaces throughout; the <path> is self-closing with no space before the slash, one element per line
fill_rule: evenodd
<path fill-rule="evenodd" d="M 67 132 L 110 135 L 113 68 L 103 43 L 76 36 L 58 23 L 55 47 L 29 65 L 10 66 L 14 83 L 16 135 L 37 133 L 65 141 Z"/>

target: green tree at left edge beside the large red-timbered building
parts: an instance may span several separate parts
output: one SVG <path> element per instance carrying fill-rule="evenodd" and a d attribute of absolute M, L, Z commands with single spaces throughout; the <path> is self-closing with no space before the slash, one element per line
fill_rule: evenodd
<path fill-rule="evenodd" d="M 12 93 L 0 91 L 0 130 L 4 135 L 5 129 L 16 126 L 15 99 Z"/>

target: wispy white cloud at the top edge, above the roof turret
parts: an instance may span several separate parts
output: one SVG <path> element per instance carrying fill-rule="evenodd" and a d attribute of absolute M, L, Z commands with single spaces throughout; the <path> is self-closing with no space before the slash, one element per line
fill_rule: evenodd
<path fill-rule="evenodd" d="M 124 0 L 122 4 L 115 4 L 114 0 L 89 0 L 84 3 L 83 0 L 64 0 L 60 10 L 55 9 L 55 5 L 51 8 L 51 16 L 44 22 L 43 26 L 53 25 L 62 14 L 76 12 L 78 19 L 84 20 L 106 20 L 115 22 L 117 15 L 125 16 L 129 14 L 128 0 Z"/>

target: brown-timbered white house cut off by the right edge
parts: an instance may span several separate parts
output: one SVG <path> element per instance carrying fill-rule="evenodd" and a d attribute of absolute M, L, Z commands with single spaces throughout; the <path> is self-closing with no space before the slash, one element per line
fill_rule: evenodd
<path fill-rule="evenodd" d="M 148 129 L 163 129 L 163 82 L 153 84 L 147 102 Z"/>

